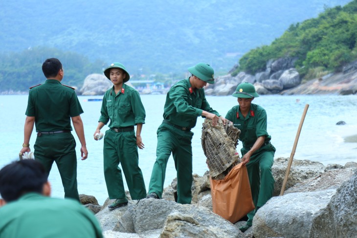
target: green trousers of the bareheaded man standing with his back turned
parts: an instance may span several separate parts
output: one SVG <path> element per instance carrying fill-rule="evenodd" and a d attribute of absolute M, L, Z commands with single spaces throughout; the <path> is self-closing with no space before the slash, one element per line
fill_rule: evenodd
<path fill-rule="evenodd" d="M 41 134 L 34 145 L 35 159 L 45 166 L 47 174 L 56 162 L 65 190 L 65 197 L 79 201 L 77 189 L 76 141 L 71 133 Z"/>

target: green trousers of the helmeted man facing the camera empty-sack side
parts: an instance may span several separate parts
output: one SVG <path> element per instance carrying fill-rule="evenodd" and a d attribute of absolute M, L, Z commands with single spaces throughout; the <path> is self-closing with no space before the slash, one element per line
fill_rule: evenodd
<path fill-rule="evenodd" d="M 104 136 L 104 177 L 110 199 L 126 199 L 123 175 L 133 200 L 146 197 L 144 178 L 139 168 L 139 156 L 134 130 L 115 132 L 107 130 Z"/>

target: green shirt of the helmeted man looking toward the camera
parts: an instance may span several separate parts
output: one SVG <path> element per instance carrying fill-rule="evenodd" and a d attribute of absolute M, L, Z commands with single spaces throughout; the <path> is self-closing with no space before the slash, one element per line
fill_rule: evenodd
<path fill-rule="evenodd" d="M 126 84 L 117 95 L 114 86 L 104 94 L 101 116 L 99 122 L 107 124 L 111 120 L 109 128 L 130 127 L 145 123 L 145 108 L 141 102 L 139 93 Z"/>

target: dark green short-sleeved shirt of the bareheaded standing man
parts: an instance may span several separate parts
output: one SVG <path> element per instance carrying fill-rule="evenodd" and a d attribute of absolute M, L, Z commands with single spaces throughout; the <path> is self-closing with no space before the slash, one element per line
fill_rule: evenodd
<path fill-rule="evenodd" d="M 28 95 L 27 116 L 34 116 L 36 131 L 72 130 L 70 118 L 83 113 L 74 90 L 58 80 L 47 79 Z"/>

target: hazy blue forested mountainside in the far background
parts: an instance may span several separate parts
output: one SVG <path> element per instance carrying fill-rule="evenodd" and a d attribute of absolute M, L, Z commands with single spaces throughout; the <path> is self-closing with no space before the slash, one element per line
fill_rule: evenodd
<path fill-rule="evenodd" d="M 66 80 L 120 61 L 131 74 L 174 77 L 207 62 L 226 73 L 289 25 L 349 0 L 0 1 L 0 87 L 43 82 L 44 58 L 66 59 Z M 69 57 L 70 56 L 70 57 Z M 164 78 L 164 77 L 163 77 Z M 20 84 L 13 84 L 16 79 Z"/>

